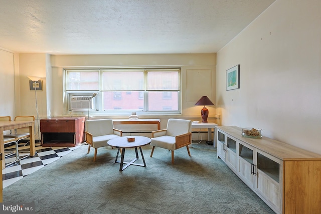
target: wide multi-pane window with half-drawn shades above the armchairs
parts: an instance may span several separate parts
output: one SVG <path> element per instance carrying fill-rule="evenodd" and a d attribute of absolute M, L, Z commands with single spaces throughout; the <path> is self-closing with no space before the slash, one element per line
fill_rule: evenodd
<path fill-rule="evenodd" d="M 178 68 L 65 69 L 65 93 L 98 93 L 98 113 L 180 113 L 180 75 Z"/>

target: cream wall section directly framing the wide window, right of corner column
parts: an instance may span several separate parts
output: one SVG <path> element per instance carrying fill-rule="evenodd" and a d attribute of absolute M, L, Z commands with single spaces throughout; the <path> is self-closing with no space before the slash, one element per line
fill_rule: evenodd
<path fill-rule="evenodd" d="M 63 68 L 70 67 L 182 67 L 182 116 L 201 119 L 201 107 L 194 104 L 202 97 L 215 100 L 216 54 L 147 55 L 52 55 L 53 116 L 67 114 L 63 107 Z M 209 106 L 209 121 L 216 122 L 215 106 Z M 86 116 L 86 115 L 82 115 Z M 129 116 L 129 115 L 128 115 Z M 127 117 L 128 117 L 127 116 Z M 157 115 L 159 118 L 161 115 Z"/>

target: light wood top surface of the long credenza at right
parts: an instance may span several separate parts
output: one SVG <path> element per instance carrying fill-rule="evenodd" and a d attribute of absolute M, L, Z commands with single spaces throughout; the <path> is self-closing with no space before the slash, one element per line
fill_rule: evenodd
<path fill-rule="evenodd" d="M 281 160 L 321 160 L 320 154 L 316 154 L 268 137 L 262 136 L 262 138 L 258 139 L 243 137 L 242 128 L 237 126 L 217 126 L 216 128 Z"/>

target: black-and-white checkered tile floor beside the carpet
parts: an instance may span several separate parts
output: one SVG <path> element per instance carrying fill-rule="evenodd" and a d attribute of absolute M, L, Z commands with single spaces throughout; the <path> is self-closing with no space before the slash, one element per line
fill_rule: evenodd
<path fill-rule="evenodd" d="M 25 176 L 41 169 L 49 163 L 58 160 L 60 157 L 68 154 L 72 150 L 79 147 L 36 147 L 36 155 L 33 157 L 27 157 L 20 162 L 7 166 L 2 171 L 3 176 L 3 188 L 13 184 L 14 182 L 24 178 Z M 27 150 L 27 149 L 26 149 Z M 19 151 L 21 151 L 19 147 Z M 24 150 L 22 150 L 24 151 Z M 27 150 L 28 151 L 28 150 Z M 19 153 L 20 157 L 24 157 L 29 153 Z M 15 160 L 15 156 L 6 158 L 6 164 Z"/>

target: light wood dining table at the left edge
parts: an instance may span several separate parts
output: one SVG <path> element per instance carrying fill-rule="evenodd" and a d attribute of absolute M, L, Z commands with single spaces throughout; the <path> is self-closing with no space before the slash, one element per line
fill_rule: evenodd
<path fill-rule="evenodd" d="M 2 134 L 6 130 L 12 130 L 17 128 L 29 128 L 30 133 L 30 156 L 35 156 L 35 121 L 0 121 L 0 153 L 2 153 L 2 168 L 6 167 L 5 161 L 5 145 L 4 135 Z"/>

